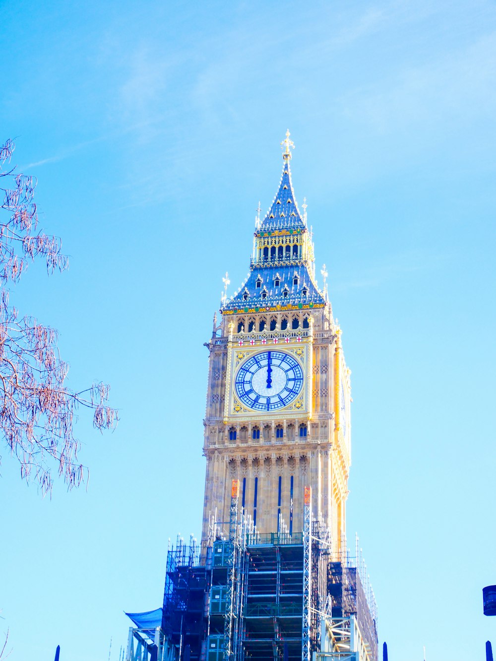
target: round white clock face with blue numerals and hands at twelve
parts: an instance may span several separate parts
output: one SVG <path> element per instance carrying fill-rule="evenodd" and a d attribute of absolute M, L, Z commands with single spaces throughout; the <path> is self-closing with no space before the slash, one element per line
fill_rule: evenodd
<path fill-rule="evenodd" d="M 264 351 L 242 364 L 234 387 L 246 407 L 273 411 L 287 406 L 301 393 L 303 371 L 293 356 Z"/>

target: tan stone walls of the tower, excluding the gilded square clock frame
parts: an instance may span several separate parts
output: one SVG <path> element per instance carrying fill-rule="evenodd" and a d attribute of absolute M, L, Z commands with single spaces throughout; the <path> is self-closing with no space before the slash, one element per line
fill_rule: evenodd
<path fill-rule="evenodd" d="M 277 319 L 276 331 L 281 328 L 285 313 L 250 315 L 254 332 L 260 323 Z M 339 343 L 332 320 L 330 305 L 326 309 L 299 313 L 312 326 L 312 410 L 302 419 L 284 409 L 274 411 L 270 420 L 225 418 L 226 377 L 229 335 L 240 325 L 248 327 L 248 315 L 223 318 L 217 332 L 207 344 L 209 348 L 209 380 L 205 416 L 204 453 L 207 458 L 205 502 L 203 510 L 203 544 L 207 543 L 209 528 L 215 520 L 227 530 L 229 525 L 230 485 L 240 480 L 240 503 L 248 514 L 255 516 L 258 531 L 276 532 L 279 509 L 281 519 L 293 533 L 303 525 L 303 489 L 312 486 L 314 516 L 332 531 L 335 548 L 345 533 L 345 500 L 349 457 L 336 430 L 336 370 L 342 356 L 336 351 Z M 299 426 L 306 424 L 306 436 L 299 436 Z M 277 438 L 277 427 L 283 430 Z M 258 427 L 260 439 L 253 438 Z M 230 434 L 235 432 L 235 434 Z M 236 436 L 236 438 L 230 438 Z M 281 499 L 279 506 L 279 478 Z M 293 478 L 293 490 L 291 490 Z M 257 492 L 255 502 L 255 490 Z M 292 497 L 291 497 L 292 496 Z"/>

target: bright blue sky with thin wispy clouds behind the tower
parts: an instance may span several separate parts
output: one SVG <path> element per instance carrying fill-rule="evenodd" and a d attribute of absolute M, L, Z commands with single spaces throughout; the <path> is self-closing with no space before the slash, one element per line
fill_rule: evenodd
<path fill-rule="evenodd" d="M 60 332 L 88 489 L 42 500 L 2 452 L 0 630 L 13 661 L 116 661 L 199 534 L 221 277 L 295 141 L 317 272 L 352 370 L 347 506 L 392 661 L 483 658 L 496 623 L 496 7 L 473 0 L 1 3 L 3 138 L 69 272 L 11 294 Z"/>

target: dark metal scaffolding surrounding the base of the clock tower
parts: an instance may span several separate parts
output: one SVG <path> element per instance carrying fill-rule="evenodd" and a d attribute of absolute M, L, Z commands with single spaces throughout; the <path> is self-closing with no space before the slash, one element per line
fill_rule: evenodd
<path fill-rule="evenodd" d="M 334 551 L 329 529 L 312 518 L 310 487 L 303 531 L 293 534 L 283 520 L 277 533 L 258 533 L 238 494 L 234 480 L 229 522 L 212 522 L 206 550 L 192 537 L 168 551 L 159 634 L 168 656 L 147 657 L 141 644 L 128 661 L 377 661 L 365 563 L 353 564 L 344 540 Z"/>

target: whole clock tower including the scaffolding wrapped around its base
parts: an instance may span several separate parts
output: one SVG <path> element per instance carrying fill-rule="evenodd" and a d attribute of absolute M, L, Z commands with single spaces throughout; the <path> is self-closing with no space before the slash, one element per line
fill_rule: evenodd
<path fill-rule="evenodd" d="M 283 173 L 209 351 L 201 540 L 168 550 L 164 602 L 128 613 L 127 661 L 378 661 L 374 595 L 347 550 L 351 385 L 306 204 Z"/>

